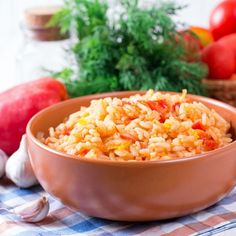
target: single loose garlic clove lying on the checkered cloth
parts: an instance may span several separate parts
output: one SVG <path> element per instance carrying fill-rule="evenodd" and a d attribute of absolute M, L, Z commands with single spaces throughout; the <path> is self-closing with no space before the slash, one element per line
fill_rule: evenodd
<path fill-rule="evenodd" d="M 43 220 L 48 215 L 49 202 L 46 197 L 42 197 L 36 201 L 18 206 L 14 208 L 12 212 L 25 222 L 36 223 Z"/>

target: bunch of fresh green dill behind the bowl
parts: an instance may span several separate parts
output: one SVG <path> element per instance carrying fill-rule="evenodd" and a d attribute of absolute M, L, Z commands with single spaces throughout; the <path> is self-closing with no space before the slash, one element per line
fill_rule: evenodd
<path fill-rule="evenodd" d="M 70 53 L 79 68 L 57 73 L 71 96 L 114 91 L 157 89 L 204 94 L 206 69 L 199 61 L 188 62 L 186 45 L 172 16 L 182 9 L 173 2 L 140 8 L 138 0 L 121 0 L 122 13 L 107 17 L 102 0 L 71 0 L 52 19 L 62 32 L 75 31 Z"/>

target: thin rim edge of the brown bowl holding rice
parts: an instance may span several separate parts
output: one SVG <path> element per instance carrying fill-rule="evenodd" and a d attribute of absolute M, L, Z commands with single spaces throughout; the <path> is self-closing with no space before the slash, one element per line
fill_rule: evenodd
<path fill-rule="evenodd" d="M 86 96 L 81 96 L 81 97 L 76 97 L 76 98 L 71 98 L 59 103 L 56 103 L 52 106 L 49 106 L 43 110 L 41 110 L 40 112 L 38 112 L 37 114 L 35 114 L 30 121 L 27 124 L 26 127 L 26 134 L 27 134 L 27 139 L 31 139 L 32 142 L 36 145 L 39 146 L 40 148 L 46 150 L 47 152 L 50 152 L 52 154 L 55 154 L 56 156 L 60 156 L 60 158 L 70 158 L 73 160 L 77 160 L 80 162 L 84 162 L 84 163 L 94 163 L 94 164 L 106 164 L 106 165 L 125 165 L 125 166 L 146 166 L 146 165 L 153 165 L 153 164 L 158 164 L 158 165 L 163 165 L 163 164 L 174 164 L 174 163 L 181 163 L 181 162 L 188 162 L 188 161 L 194 161 L 194 160 L 198 160 L 198 159 L 205 159 L 206 157 L 211 157 L 214 156 L 217 153 L 223 153 L 225 151 L 228 151 L 231 148 L 236 148 L 236 140 L 234 140 L 233 142 L 227 144 L 226 146 L 217 148 L 215 150 L 212 151 L 208 151 L 205 153 L 201 153 L 201 154 L 196 154 L 190 157 L 181 157 L 181 158 L 175 158 L 175 159 L 169 159 L 169 160 L 153 160 L 153 161 L 135 161 L 135 160 L 131 160 L 131 161 L 122 161 L 122 160 L 103 160 L 103 159 L 89 159 L 89 158 L 84 158 L 81 156 L 75 156 L 75 155 L 71 155 L 71 154 L 67 154 L 67 153 L 63 153 L 63 152 L 59 152 L 56 151 L 52 148 L 50 148 L 49 146 L 41 143 L 31 132 L 31 127 L 32 127 L 32 123 L 34 122 L 35 119 L 37 119 L 38 116 L 43 115 L 43 113 L 47 112 L 48 110 L 51 109 L 57 109 L 60 106 L 65 106 L 67 103 L 71 103 L 74 102 L 76 100 L 80 100 L 80 99 L 88 99 L 88 100 L 93 100 L 93 99 L 99 99 L 102 97 L 115 97 L 118 95 L 125 95 L 126 94 L 130 94 L 129 96 L 133 96 L 135 94 L 142 94 L 146 91 L 142 90 L 142 91 L 136 91 L 136 90 L 132 90 L 132 91 L 114 91 L 114 92 L 108 92 L 108 93 L 99 93 L 99 94 L 92 94 L 92 95 L 86 95 Z M 172 91 L 156 91 L 156 92 L 160 92 L 160 93 L 170 93 L 170 94 L 181 94 L 178 92 L 172 92 Z M 117 94 L 117 95 L 116 95 Z M 208 98 L 205 96 L 199 96 L 199 95 L 193 95 L 193 94 L 188 94 L 187 96 L 191 97 L 193 100 L 197 99 L 197 100 L 201 100 L 206 102 L 206 103 L 211 103 L 214 104 L 215 106 L 219 106 L 221 108 L 223 108 L 224 110 L 230 110 L 232 112 L 235 113 L 236 115 L 236 108 L 226 104 L 224 102 L 218 101 L 216 99 L 212 99 L 212 98 Z M 204 157 L 204 158 L 203 158 Z"/>

